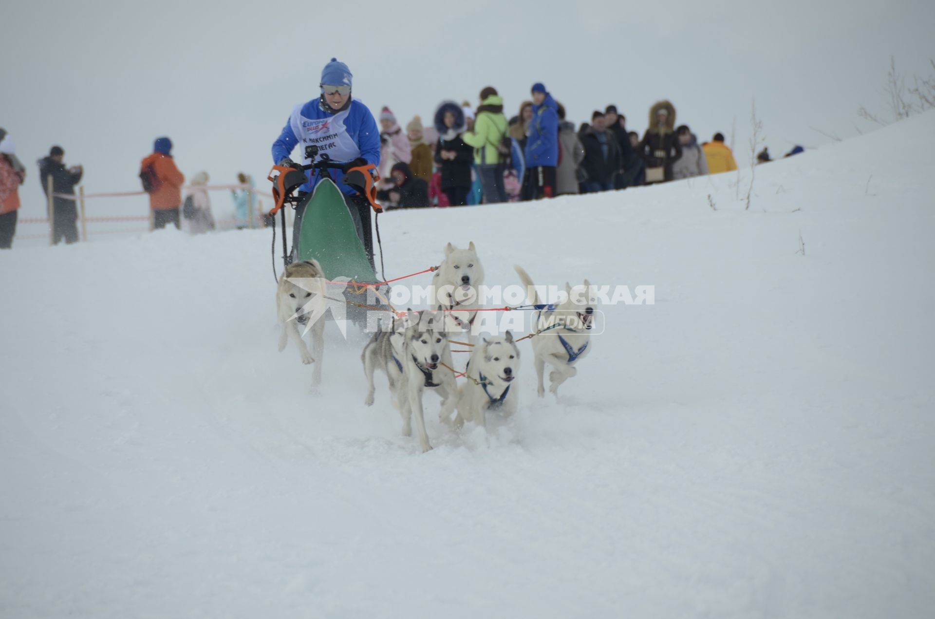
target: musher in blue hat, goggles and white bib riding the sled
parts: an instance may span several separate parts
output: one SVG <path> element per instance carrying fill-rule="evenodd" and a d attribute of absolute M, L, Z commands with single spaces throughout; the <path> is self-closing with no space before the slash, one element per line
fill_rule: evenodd
<path fill-rule="evenodd" d="M 318 158 L 323 154 L 337 163 L 344 164 L 344 171 L 357 166 L 372 164 L 380 166 L 380 129 L 370 110 L 351 96 L 353 75 L 348 65 L 337 58 L 324 65 L 319 84 L 321 95 L 308 103 L 300 103 L 292 110 L 289 120 L 282 127 L 280 137 L 273 142 L 273 163 L 279 166 L 298 167 L 290 155 L 296 146 L 302 150 L 302 165 L 313 163 L 305 157 L 305 148 L 318 146 Z M 300 192 L 311 192 L 322 180 L 318 170 L 309 170 L 309 182 L 299 188 Z M 370 203 L 367 197 L 345 185 L 338 171 L 332 178 L 345 195 L 351 211 L 357 236 L 364 243 L 367 258 L 373 266 L 373 229 L 370 224 Z M 302 212 L 305 205 L 295 209 L 293 228 L 292 259 L 295 260 L 298 233 L 301 229 Z"/>

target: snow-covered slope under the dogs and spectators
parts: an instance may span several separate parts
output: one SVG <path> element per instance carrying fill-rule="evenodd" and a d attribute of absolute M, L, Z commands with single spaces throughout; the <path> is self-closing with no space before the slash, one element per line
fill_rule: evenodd
<path fill-rule="evenodd" d="M 268 232 L 0 253 L 0 616 L 930 616 L 933 134 L 749 211 L 745 173 L 382 217 L 390 277 L 473 240 L 488 283 L 655 286 L 558 401 L 528 342 L 513 420 L 426 397 L 426 454 L 361 338 L 319 393 L 277 353 Z"/>

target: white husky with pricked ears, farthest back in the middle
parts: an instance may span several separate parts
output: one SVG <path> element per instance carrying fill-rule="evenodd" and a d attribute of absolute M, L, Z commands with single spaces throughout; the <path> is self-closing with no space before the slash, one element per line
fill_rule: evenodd
<path fill-rule="evenodd" d="M 445 325 L 449 331 L 468 329 L 473 324 L 480 308 L 478 295 L 482 284 L 483 266 L 474 241 L 466 250 L 451 243 L 446 245 L 445 259 L 432 276 L 432 286 L 433 303 L 436 310 L 445 311 Z"/>

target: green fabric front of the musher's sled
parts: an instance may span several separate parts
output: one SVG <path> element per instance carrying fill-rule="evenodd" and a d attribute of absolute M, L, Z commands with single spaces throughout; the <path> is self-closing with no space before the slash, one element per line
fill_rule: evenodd
<path fill-rule="evenodd" d="M 302 215 L 298 237 L 298 259 L 314 258 L 329 280 L 348 278 L 377 283 L 377 274 L 367 260 L 364 244 L 338 186 L 323 179 L 316 186 Z"/>

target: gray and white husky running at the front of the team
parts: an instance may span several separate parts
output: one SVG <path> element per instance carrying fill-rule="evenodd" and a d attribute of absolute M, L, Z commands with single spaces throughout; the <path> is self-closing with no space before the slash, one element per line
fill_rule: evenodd
<path fill-rule="evenodd" d="M 414 416 L 424 453 L 432 449 L 425 431 L 422 402 L 425 390 L 441 397 L 439 419 L 450 424 L 458 389 L 453 371 L 449 369 L 453 367 L 452 349 L 444 329 L 444 317 L 434 311 L 418 315 L 410 312 L 407 324 L 401 334 L 378 333 L 367 342 L 362 355 L 368 381 L 365 403 L 373 402 L 373 372 L 384 369 L 390 379 L 394 406 L 403 418 L 403 436 L 412 436 Z"/>

